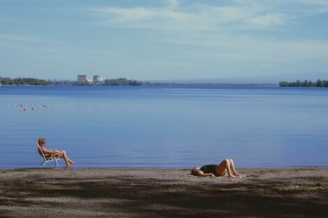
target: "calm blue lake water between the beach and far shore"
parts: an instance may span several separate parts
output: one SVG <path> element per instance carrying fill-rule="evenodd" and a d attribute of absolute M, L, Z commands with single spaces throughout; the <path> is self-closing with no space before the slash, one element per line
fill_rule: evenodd
<path fill-rule="evenodd" d="M 328 166 L 327 109 L 327 88 L 0 86 L 0 168 L 40 166 L 39 137 L 76 168 Z"/>

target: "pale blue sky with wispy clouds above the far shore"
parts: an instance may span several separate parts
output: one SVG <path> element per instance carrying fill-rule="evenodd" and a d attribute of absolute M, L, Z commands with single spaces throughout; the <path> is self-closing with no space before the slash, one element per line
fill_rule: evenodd
<path fill-rule="evenodd" d="M 0 77 L 328 79 L 328 0 L 0 0 Z"/>

